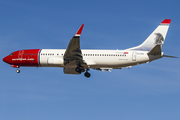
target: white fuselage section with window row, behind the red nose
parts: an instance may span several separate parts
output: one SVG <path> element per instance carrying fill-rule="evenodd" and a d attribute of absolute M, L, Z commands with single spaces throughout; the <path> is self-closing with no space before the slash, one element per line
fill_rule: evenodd
<path fill-rule="evenodd" d="M 161 55 L 148 55 L 148 51 L 132 50 L 81 50 L 83 60 L 90 68 L 113 68 L 130 67 L 161 58 Z M 64 66 L 65 49 L 42 49 L 39 55 L 41 67 L 69 67 Z"/>

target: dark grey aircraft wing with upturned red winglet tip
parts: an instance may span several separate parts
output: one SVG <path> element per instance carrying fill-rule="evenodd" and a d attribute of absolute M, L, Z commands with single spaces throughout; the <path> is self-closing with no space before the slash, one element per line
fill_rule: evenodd
<path fill-rule="evenodd" d="M 64 54 L 64 65 L 78 65 L 83 63 L 82 52 L 80 49 L 80 35 L 84 24 L 81 25 L 77 33 L 70 40 Z"/>

